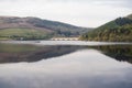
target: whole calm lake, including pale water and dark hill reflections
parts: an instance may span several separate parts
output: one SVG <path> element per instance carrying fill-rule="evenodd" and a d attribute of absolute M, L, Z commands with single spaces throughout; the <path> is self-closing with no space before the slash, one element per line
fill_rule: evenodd
<path fill-rule="evenodd" d="M 0 88 L 132 88 L 132 43 L 0 43 Z"/>

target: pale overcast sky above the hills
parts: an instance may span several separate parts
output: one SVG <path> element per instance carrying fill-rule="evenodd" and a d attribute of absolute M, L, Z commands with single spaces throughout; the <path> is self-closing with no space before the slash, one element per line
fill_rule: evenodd
<path fill-rule="evenodd" d="M 132 0 L 0 0 L 0 15 L 36 16 L 97 28 L 132 13 Z"/>

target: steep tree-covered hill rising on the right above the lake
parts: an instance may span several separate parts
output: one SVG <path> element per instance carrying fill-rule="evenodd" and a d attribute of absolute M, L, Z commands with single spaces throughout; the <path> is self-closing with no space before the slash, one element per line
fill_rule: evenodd
<path fill-rule="evenodd" d="M 87 41 L 132 42 L 132 14 L 118 18 L 80 36 Z"/>

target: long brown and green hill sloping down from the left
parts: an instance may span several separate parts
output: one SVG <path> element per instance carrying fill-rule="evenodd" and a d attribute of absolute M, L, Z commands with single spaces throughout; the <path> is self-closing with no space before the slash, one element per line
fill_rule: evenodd
<path fill-rule="evenodd" d="M 78 36 L 91 29 L 38 18 L 0 16 L 0 40 L 45 40 Z"/>

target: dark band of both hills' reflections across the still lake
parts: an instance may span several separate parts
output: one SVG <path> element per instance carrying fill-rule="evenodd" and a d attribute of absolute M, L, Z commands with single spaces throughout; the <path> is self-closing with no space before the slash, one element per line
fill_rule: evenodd
<path fill-rule="evenodd" d="M 66 55 L 79 50 L 97 50 L 120 62 L 132 64 L 132 45 L 36 46 L 26 44 L 0 44 L 0 63 L 37 62 L 51 57 Z M 97 57 L 98 58 L 98 57 Z"/>

